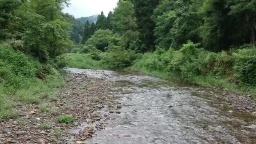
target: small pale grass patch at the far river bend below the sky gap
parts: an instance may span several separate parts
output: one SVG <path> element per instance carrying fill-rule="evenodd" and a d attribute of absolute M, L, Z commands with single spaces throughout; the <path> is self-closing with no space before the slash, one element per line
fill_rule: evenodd
<path fill-rule="evenodd" d="M 80 69 L 104 69 L 101 61 L 96 61 L 87 56 L 87 54 L 69 53 L 65 56 L 67 67 Z"/>

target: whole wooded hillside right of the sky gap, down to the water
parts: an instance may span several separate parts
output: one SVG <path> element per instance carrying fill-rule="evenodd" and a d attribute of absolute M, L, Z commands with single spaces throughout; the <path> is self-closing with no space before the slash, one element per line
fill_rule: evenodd
<path fill-rule="evenodd" d="M 256 0 L 120 0 L 85 24 L 69 67 L 140 71 L 244 93 L 256 86 Z"/>

